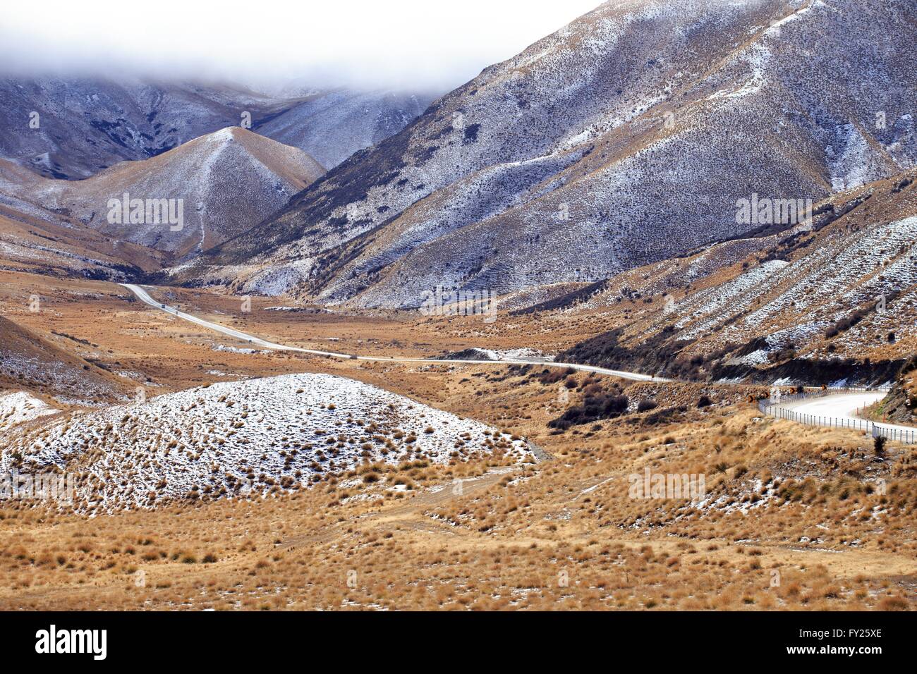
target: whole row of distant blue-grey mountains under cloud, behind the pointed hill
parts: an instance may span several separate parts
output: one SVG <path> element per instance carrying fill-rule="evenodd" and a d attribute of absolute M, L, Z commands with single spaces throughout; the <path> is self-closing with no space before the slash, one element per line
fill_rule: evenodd
<path fill-rule="evenodd" d="M 233 84 L 6 78 L 0 79 L 0 158 L 75 180 L 243 126 L 330 168 L 400 131 L 429 100 L 388 91 L 260 94 Z"/>

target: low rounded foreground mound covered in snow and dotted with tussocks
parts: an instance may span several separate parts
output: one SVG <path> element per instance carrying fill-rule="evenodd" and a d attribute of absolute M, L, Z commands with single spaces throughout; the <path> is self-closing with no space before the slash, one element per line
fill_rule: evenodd
<path fill-rule="evenodd" d="M 217 383 L 66 415 L 10 433 L 3 449 L 2 470 L 77 475 L 83 511 L 287 491 L 365 461 L 526 456 L 523 441 L 487 425 L 326 374 Z"/>

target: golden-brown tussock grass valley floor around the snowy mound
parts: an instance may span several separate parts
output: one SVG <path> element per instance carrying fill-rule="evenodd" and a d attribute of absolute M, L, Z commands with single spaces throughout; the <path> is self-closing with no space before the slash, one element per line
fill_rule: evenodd
<path fill-rule="evenodd" d="M 251 345 L 129 301 L 106 282 L 4 274 L 3 315 L 141 386 L 327 372 L 525 438 L 544 454 L 360 466 L 291 493 L 93 518 L 0 503 L 4 609 L 911 609 L 917 463 L 856 431 L 764 417 L 756 387 L 624 381 L 537 365 L 367 362 Z M 32 295 L 42 298 L 29 311 Z M 157 297 L 284 344 L 429 357 L 480 345 L 568 348 L 588 317 L 411 320 Z M 118 374 L 120 373 L 120 374 Z M 0 377 L 3 377 L 0 372 Z M 21 381 L 3 380 L 7 390 Z M 54 381 L 28 390 L 58 409 Z M 550 427 L 589 396 L 625 414 Z M 702 396 L 711 403 L 699 406 Z M 650 401 L 655 406 L 636 403 Z M 38 427 L 53 416 L 27 422 Z M 6 431 L 2 431 L 6 432 Z M 646 471 L 704 475 L 696 499 L 635 497 Z M 371 479 L 368 477 L 371 473 Z M 636 478 L 634 477 L 636 476 Z"/>

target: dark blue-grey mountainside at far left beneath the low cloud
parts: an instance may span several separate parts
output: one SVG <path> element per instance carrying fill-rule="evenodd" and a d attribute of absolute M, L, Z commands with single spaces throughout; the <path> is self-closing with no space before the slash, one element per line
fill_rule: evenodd
<path fill-rule="evenodd" d="M 275 114 L 279 103 L 232 87 L 81 78 L 0 80 L 0 156 L 43 175 L 86 178 L 193 138 Z"/>

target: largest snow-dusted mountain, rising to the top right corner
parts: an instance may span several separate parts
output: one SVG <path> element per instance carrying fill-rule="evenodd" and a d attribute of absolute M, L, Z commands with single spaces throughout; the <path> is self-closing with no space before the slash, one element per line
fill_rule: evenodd
<path fill-rule="evenodd" d="M 415 306 L 749 233 L 736 202 L 914 165 L 906 0 L 609 2 L 357 153 L 187 278 Z M 208 266 L 209 265 L 209 266 Z"/>

